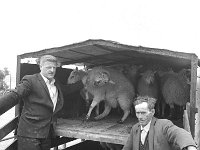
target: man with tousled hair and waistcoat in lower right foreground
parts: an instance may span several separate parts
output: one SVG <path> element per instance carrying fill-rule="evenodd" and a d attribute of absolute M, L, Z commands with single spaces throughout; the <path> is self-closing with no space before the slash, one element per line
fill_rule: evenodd
<path fill-rule="evenodd" d="M 123 150 L 197 150 L 189 132 L 170 120 L 154 117 L 156 99 L 139 96 L 134 102 L 135 124 Z"/>

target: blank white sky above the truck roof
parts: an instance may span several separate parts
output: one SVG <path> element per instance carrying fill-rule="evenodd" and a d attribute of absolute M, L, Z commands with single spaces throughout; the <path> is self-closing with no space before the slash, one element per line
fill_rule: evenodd
<path fill-rule="evenodd" d="M 195 53 L 199 0 L 1 0 L 0 69 L 17 55 L 88 39 Z"/>

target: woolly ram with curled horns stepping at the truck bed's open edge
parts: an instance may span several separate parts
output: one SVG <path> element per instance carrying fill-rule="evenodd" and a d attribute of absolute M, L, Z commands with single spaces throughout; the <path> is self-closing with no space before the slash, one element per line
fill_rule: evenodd
<path fill-rule="evenodd" d="M 94 118 L 95 120 L 106 117 L 111 108 L 117 108 L 117 106 L 120 106 L 124 112 L 118 123 L 123 123 L 130 114 L 135 89 L 122 73 L 108 67 L 94 67 L 87 72 L 85 87 L 94 96 L 86 120 L 90 118 L 93 108 L 101 101 L 105 102 L 105 108 L 103 113 Z"/>

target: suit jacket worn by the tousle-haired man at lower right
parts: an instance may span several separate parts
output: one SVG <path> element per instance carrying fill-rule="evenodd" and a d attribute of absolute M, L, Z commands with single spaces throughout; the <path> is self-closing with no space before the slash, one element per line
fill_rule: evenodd
<path fill-rule="evenodd" d="M 123 150 L 139 150 L 141 127 L 135 124 Z M 149 129 L 149 150 L 180 150 L 196 146 L 191 134 L 175 126 L 170 120 L 154 118 Z"/>

